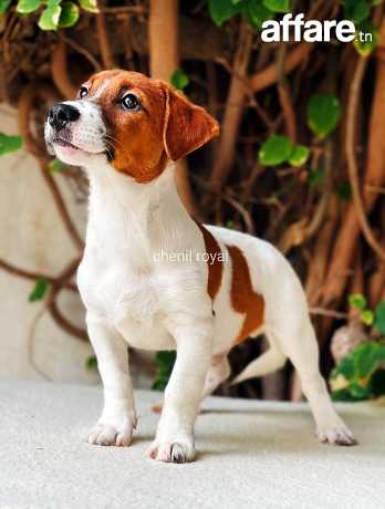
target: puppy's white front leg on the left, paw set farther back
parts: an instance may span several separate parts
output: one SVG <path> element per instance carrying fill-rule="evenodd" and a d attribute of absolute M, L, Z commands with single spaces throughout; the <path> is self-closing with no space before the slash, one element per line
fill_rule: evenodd
<path fill-rule="evenodd" d="M 87 331 L 104 387 L 104 407 L 92 428 L 90 444 L 128 446 L 136 426 L 128 346 L 114 328 L 87 315 Z"/>

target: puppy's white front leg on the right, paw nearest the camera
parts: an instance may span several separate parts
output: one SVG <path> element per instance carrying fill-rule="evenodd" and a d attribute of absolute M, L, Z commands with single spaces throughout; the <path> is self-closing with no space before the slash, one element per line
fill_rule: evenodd
<path fill-rule="evenodd" d="M 165 391 L 156 438 L 148 456 L 159 461 L 186 463 L 195 457 L 194 424 L 212 355 L 211 323 L 174 331 L 177 359 Z"/>

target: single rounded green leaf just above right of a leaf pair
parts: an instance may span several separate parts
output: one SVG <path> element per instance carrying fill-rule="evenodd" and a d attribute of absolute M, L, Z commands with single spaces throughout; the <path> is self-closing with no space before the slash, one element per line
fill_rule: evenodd
<path fill-rule="evenodd" d="M 314 94 L 308 104 L 308 125 L 324 138 L 335 129 L 341 116 L 341 104 L 333 94 Z"/>

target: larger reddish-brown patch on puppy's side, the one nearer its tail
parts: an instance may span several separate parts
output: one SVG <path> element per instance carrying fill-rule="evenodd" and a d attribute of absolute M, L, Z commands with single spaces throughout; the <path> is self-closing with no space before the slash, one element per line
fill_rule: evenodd
<path fill-rule="evenodd" d="M 227 246 L 232 262 L 231 304 L 238 313 L 244 313 L 242 328 L 236 342 L 240 343 L 263 324 L 264 300 L 252 288 L 248 262 L 236 246 Z"/>

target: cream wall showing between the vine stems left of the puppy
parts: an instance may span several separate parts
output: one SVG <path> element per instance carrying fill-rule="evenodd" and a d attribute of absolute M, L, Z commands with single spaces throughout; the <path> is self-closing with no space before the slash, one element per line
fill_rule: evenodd
<path fill-rule="evenodd" d="M 0 132 L 18 134 L 15 113 L 0 105 Z M 79 230 L 84 230 L 85 206 L 75 202 L 65 178 L 55 174 Z M 50 191 L 33 157 L 25 152 L 0 156 L 0 258 L 33 271 L 56 276 L 75 257 Z M 0 378 L 39 380 L 30 359 L 30 336 L 42 304 L 28 302 L 33 281 L 9 276 L 0 268 Z M 77 295 L 63 292 L 63 313 L 83 325 Z M 34 362 L 46 377 L 60 382 L 94 383 L 85 367 L 90 344 L 64 333 L 45 313 L 34 334 Z"/>

